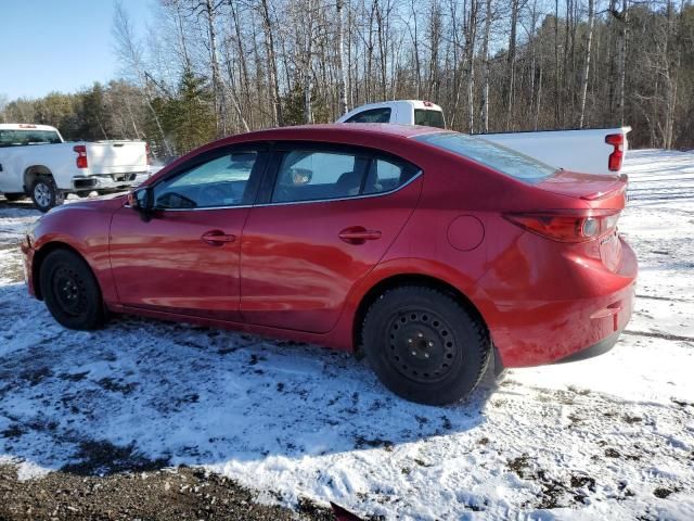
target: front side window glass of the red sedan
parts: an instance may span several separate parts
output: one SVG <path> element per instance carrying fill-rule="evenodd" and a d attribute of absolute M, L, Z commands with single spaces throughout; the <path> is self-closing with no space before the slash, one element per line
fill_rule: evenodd
<path fill-rule="evenodd" d="M 248 180 L 257 152 L 233 152 L 155 185 L 158 209 L 210 208 L 248 203 Z"/>

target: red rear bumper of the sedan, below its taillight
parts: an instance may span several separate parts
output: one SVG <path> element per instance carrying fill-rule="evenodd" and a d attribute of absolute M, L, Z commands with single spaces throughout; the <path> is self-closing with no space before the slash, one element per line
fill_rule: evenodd
<path fill-rule="evenodd" d="M 489 325 L 503 366 L 573 361 L 608 351 L 631 318 L 637 269 L 635 255 L 622 243 L 620 269 L 593 281 L 600 294 L 571 298 L 567 282 L 563 300 L 503 303 L 501 319 Z"/>

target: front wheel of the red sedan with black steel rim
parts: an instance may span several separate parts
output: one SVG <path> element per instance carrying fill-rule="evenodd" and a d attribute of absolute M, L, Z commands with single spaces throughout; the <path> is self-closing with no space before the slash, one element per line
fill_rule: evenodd
<path fill-rule="evenodd" d="M 41 264 L 41 294 L 53 318 L 68 329 L 93 330 L 104 322 L 101 290 L 89 265 L 74 252 L 55 250 Z"/>

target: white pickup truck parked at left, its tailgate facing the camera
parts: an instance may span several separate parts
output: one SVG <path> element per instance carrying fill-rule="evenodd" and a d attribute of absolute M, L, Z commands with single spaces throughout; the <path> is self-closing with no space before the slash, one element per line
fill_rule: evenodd
<path fill-rule="evenodd" d="M 48 125 L 0 124 L 0 192 L 9 201 L 29 195 L 48 212 L 68 193 L 125 190 L 146 179 L 144 141 L 63 141 Z"/>

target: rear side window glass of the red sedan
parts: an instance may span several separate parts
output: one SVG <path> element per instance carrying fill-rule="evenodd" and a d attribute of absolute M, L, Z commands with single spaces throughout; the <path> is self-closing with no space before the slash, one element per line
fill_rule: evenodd
<path fill-rule="evenodd" d="M 419 169 L 397 158 L 369 153 L 293 150 L 280 163 L 273 203 L 321 201 L 389 192 Z"/>

